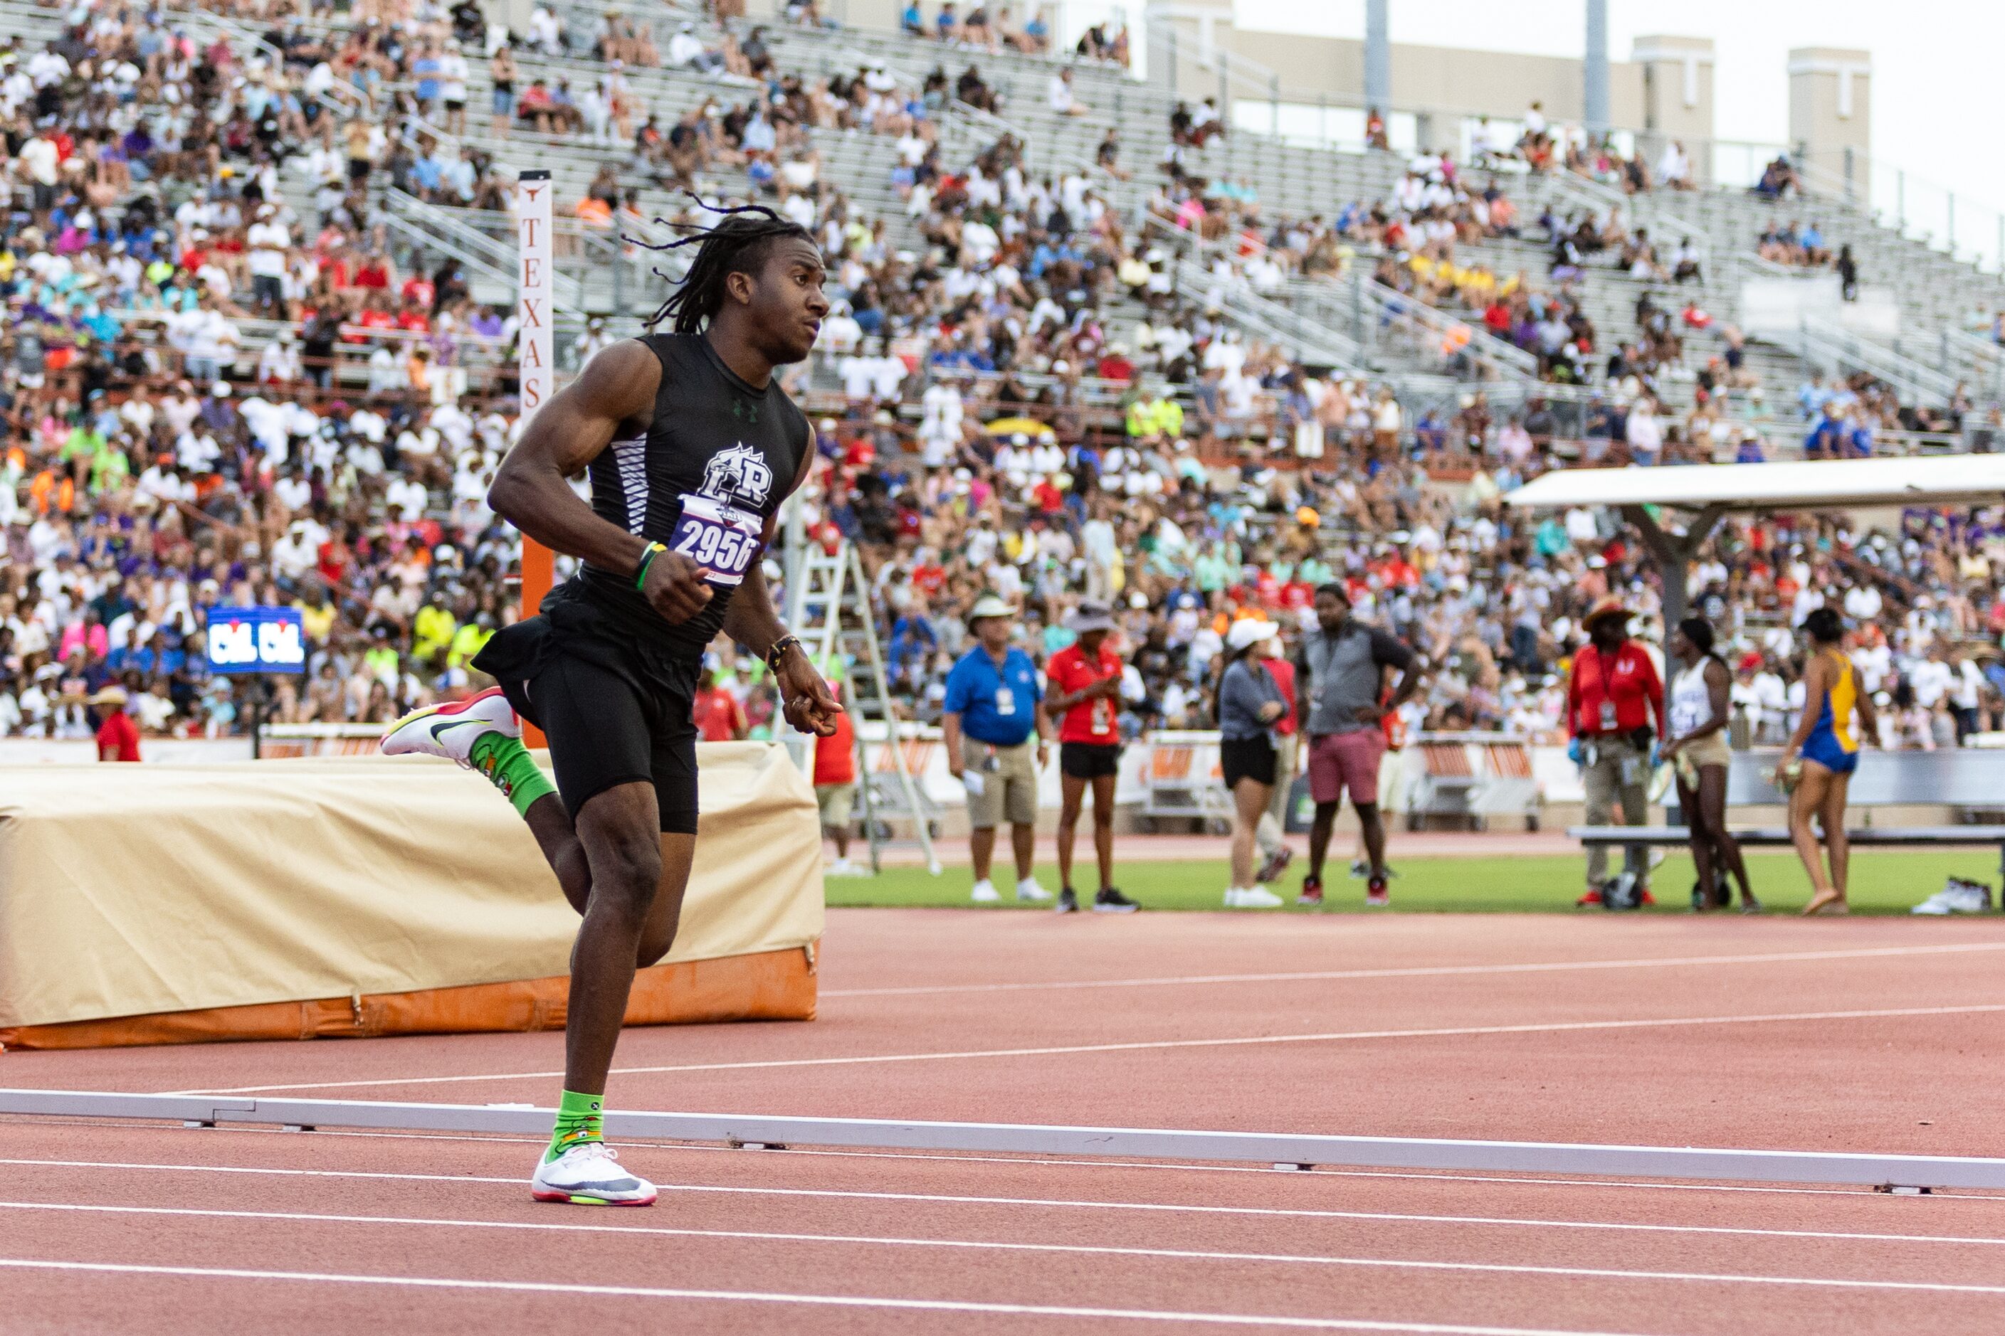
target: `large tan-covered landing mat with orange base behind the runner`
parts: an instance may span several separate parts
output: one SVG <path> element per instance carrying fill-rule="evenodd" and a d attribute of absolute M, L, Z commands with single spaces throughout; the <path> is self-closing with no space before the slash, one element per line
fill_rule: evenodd
<path fill-rule="evenodd" d="M 764 743 L 700 745 L 698 765 L 696 867 L 656 985 L 664 997 L 678 991 L 668 983 L 682 977 L 676 963 L 780 951 L 798 961 L 782 973 L 802 971 L 812 1014 L 802 947 L 822 935 L 814 791 L 784 749 Z M 12 1028 L 301 1001 L 349 1012 L 349 1026 L 295 1008 L 277 1034 L 397 1034 L 407 1030 L 353 1018 L 377 1004 L 393 1026 L 415 1006 L 395 995 L 473 983 L 543 981 L 531 989 L 541 997 L 565 973 L 575 931 L 515 809 L 445 761 L 0 769 L 0 1044 L 28 1042 L 10 1040 Z M 772 993 L 766 971 L 746 975 L 746 997 Z M 692 999 L 716 993 L 694 975 L 680 987 Z M 802 985 L 780 991 L 798 1012 Z M 491 1006 L 491 1026 L 469 1024 L 453 999 L 417 1012 L 437 1030 L 551 1024 L 547 999 L 517 993 L 483 993 L 473 1018 Z M 561 1024 L 561 987 L 553 997 Z M 702 1016 L 662 1016 L 676 1006 L 662 997 L 650 1006 L 660 1020 L 728 1018 L 716 995 L 696 1006 L 708 1006 Z M 162 1018 L 154 1030 L 172 1026 Z M 255 1032 L 273 1036 L 269 1018 Z M 253 1036 L 198 1026 L 96 1042 L 172 1038 Z"/>

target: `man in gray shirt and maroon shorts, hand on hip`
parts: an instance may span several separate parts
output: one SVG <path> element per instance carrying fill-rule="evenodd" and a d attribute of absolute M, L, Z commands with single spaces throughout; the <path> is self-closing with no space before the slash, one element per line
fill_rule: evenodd
<path fill-rule="evenodd" d="M 1371 863 L 1365 903 L 1387 903 L 1385 819 L 1377 809 L 1377 767 L 1385 755 L 1383 719 L 1420 687 L 1420 659 L 1397 637 L 1351 617 L 1343 585 L 1315 591 L 1315 631 L 1301 639 L 1295 659 L 1295 711 L 1309 739 L 1309 875 L 1297 903 L 1323 903 L 1323 857 L 1329 829 L 1349 789 Z M 1385 669 L 1399 669 L 1399 683 L 1385 699 Z"/>

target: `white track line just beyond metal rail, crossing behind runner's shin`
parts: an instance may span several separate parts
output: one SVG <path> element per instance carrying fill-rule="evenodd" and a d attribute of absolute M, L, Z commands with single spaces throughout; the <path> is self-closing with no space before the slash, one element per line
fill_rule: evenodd
<path fill-rule="evenodd" d="M 1790 1022 L 1897 1020 L 1913 1016 L 1983 1016 L 2005 1012 L 2005 1004 L 1961 1008 L 1877 1008 L 1857 1012 L 1776 1012 L 1768 1016 L 1672 1016 L 1618 1022 L 1540 1022 L 1530 1026 L 1440 1026 L 1430 1030 L 1333 1030 L 1321 1034 L 1263 1034 L 1221 1040 L 1135 1040 L 1127 1044 L 1063 1044 L 1047 1048 L 978 1048 L 944 1054 L 858 1054 L 850 1058 L 768 1058 L 760 1062 L 684 1062 L 660 1068 L 614 1068 L 616 1076 L 658 1076 L 664 1072 L 758 1072 L 772 1068 L 852 1068 L 886 1062 L 958 1062 L 970 1058 L 1059 1058 L 1071 1054 L 1133 1054 L 1175 1048 L 1245 1048 L 1263 1044 L 1343 1044 L 1361 1040 L 1442 1040 L 1496 1034 L 1578 1034 L 1596 1030 L 1678 1030 L 1692 1026 L 1770 1026 Z M 297 1082 L 291 1086 L 227 1086 L 221 1090 L 162 1090 L 168 1096 L 253 1096 L 285 1090 L 363 1090 L 385 1086 L 455 1086 L 465 1082 L 529 1082 L 563 1076 L 557 1072 L 489 1072 L 479 1076 L 403 1076 L 375 1082 Z"/>

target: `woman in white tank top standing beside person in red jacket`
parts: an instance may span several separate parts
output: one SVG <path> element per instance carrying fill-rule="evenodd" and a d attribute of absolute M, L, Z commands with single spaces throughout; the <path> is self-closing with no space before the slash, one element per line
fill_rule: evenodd
<path fill-rule="evenodd" d="M 1740 911 L 1760 913 L 1740 845 L 1726 833 L 1726 765 L 1732 761 L 1726 711 L 1732 675 L 1712 653 L 1712 625 L 1704 617 L 1678 623 L 1670 635 L 1670 655 L 1678 661 L 1678 673 L 1670 681 L 1670 743 L 1664 759 L 1678 775 L 1678 807 L 1684 811 L 1692 863 L 1698 867 L 1692 909 L 1724 909 L 1730 903 L 1726 873 L 1732 873 L 1740 883 Z"/>

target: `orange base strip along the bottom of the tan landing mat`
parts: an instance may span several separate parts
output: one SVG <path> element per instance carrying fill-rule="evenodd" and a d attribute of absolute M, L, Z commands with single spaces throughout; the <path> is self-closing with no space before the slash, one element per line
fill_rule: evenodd
<path fill-rule="evenodd" d="M 221 1040 L 373 1040 L 393 1034 L 561 1030 L 569 975 L 413 993 L 267 1001 L 0 1030 L 0 1048 L 130 1048 Z M 628 1026 L 814 1020 L 814 947 L 652 965 L 634 975 Z"/>

